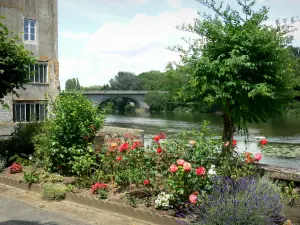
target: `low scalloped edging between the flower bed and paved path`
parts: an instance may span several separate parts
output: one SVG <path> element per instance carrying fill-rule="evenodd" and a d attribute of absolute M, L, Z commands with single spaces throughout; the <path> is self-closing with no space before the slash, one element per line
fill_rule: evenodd
<path fill-rule="evenodd" d="M 29 185 L 24 181 L 14 180 L 12 178 L 4 176 L 0 176 L 0 183 L 18 189 L 32 191 L 38 194 L 41 194 L 43 190 L 41 185 L 32 184 L 29 187 Z M 154 223 L 158 225 L 178 225 L 180 223 L 179 219 L 176 219 L 171 216 L 160 215 L 159 213 L 153 213 L 148 210 L 136 209 L 124 204 L 92 198 L 89 196 L 84 196 L 75 193 L 67 193 L 65 200 L 113 213 L 118 213 L 124 216 L 133 217 L 136 219 L 143 220 L 145 222 Z"/>

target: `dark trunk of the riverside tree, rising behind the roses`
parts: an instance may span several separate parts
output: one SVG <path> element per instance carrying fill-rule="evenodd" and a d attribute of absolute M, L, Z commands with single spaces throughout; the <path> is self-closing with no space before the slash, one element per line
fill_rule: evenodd
<path fill-rule="evenodd" d="M 232 119 L 227 115 L 223 115 L 223 154 L 227 155 L 230 153 L 231 145 L 232 145 L 232 139 L 233 139 L 233 133 L 234 133 L 234 125 Z"/>

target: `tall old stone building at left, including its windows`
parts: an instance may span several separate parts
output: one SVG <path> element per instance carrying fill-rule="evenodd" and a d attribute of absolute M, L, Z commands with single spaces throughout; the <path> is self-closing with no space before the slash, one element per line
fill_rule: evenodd
<path fill-rule="evenodd" d="M 44 120 L 49 101 L 60 92 L 57 7 L 57 0 L 0 0 L 3 22 L 37 58 L 30 66 L 35 75 L 25 90 L 4 97 L 9 108 L 0 105 L 0 123 Z"/>

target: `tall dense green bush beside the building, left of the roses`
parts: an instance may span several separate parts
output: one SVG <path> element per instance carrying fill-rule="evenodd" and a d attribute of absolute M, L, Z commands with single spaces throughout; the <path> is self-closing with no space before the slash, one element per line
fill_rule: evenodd
<path fill-rule="evenodd" d="M 88 144 L 103 126 L 104 116 L 80 93 L 62 93 L 53 104 L 55 116 L 34 137 L 35 154 L 46 170 L 71 172 L 76 157 L 86 154 Z"/>

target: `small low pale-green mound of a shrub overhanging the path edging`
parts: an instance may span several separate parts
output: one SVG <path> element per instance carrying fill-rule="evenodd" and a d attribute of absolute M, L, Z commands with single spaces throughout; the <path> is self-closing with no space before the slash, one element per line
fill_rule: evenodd
<path fill-rule="evenodd" d="M 43 199 L 63 200 L 66 197 L 67 188 L 63 184 L 46 183 L 43 186 Z"/>

